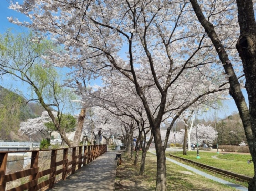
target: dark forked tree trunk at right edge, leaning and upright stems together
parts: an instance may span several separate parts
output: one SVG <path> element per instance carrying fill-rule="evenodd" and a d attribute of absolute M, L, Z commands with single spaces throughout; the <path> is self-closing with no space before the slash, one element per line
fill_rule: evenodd
<path fill-rule="evenodd" d="M 223 64 L 223 68 L 226 74 L 229 75 L 230 89 L 229 93 L 235 100 L 238 108 L 247 143 L 249 145 L 250 153 L 254 163 L 254 178 L 249 183 L 249 191 L 256 191 L 256 178 L 255 178 L 255 163 L 256 163 L 256 145 L 255 132 L 256 132 L 256 24 L 254 19 L 253 4 L 251 0 L 237 0 L 238 7 L 238 21 L 240 24 L 241 36 L 237 42 L 237 50 L 242 59 L 244 73 L 246 78 L 246 90 L 249 99 L 249 109 L 246 105 L 244 96 L 242 94 L 240 84 L 232 67 L 231 61 L 223 47 L 221 41 L 218 38 L 214 30 L 212 23 L 207 21 L 202 13 L 196 0 L 190 0 L 196 16 L 207 32 L 211 39 L 216 51 L 218 52 L 219 58 Z M 253 132 L 253 133 L 252 133 Z"/>

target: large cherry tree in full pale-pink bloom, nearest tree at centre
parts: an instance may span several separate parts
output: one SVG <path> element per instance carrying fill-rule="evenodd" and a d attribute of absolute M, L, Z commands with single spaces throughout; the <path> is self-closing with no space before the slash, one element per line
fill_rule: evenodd
<path fill-rule="evenodd" d="M 31 19 L 30 23 L 22 23 L 10 18 L 11 22 L 63 44 L 64 52 L 51 52 L 49 59 L 53 63 L 128 79 L 154 136 L 156 190 L 165 191 L 165 149 L 176 119 L 187 108 L 228 88 L 228 76 L 222 74 L 206 33 L 197 29 L 189 4 L 156 0 L 25 0 L 23 5 L 12 4 L 10 8 Z M 170 125 L 162 141 L 160 126 L 167 119 L 171 119 Z"/>

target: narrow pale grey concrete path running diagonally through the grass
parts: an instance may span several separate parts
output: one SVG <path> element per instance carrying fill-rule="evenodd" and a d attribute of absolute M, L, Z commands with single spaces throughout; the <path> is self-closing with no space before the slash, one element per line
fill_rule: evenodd
<path fill-rule="evenodd" d="M 153 151 L 149 151 L 149 152 L 152 153 L 152 154 L 154 154 L 154 155 L 156 155 L 156 153 L 153 152 Z M 183 164 L 183 163 L 177 162 L 176 160 L 173 160 L 173 159 L 171 159 L 171 158 L 166 157 L 166 160 L 171 161 L 172 163 L 175 163 L 175 164 L 177 164 L 177 165 L 180 165 L 180 166 L 182 166 L 182 167 L 184 167 L 184 168 L 186 168 L 186 169 L 188 169 L 188 170 L 190 170 L 190 171 L 192 171 L 192 172 L 194 172 L 194 173 L 196 173 L 196 174 L 198 174 L 198 175 L 204 176 L 204 177 L 206 177 L 206 178 L 208 178 L 208 179 L 214 180 L 214 181 L 219 182 L 219 183 L 222 183 L 222 184 L 226 184 L 227 186 L 233 187 L 233 188 L 235 188 L 235 189 L 237 189 L 237 190 L 240 190 L 240 191 L 248 191 L 248 188 L 246 188 L 246 187 L 243 187 L 243 186 L 240 186 L 240 185 L 238 185 L 238 184 L 234 184 L 234 183 L 228 182 L 228 181 L 226 181 L 226 180 L 217 178 L 217 177 L 215 177 L 215 176 L 209 175 L 209 174 L 207 174 L 207 173 L 205 173 L 205 172 L 202 172 L 202 171 L 200 171 L 200 170 L 197 170 L 196 168 L 193 168 L 193 167 L 191 167 L 191 166 L 188 166 L 188 165 L 185 165 L 185 164 Z"/>

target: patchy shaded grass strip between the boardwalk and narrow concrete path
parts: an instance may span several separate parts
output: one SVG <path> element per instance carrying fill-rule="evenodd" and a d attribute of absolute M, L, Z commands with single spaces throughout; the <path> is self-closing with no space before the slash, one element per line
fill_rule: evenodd
<path fill-rule="evenodd" d="M 139 176 L 140 166 L 133 165 L 122 154 L 122 165 L 117 167 L 115 190 L 154 191 L 156 184 L 156 156 L 147 153 L 145 175 Z M 235 191 L 234 188 L 206 179 L 187 169 L 166 161 L 167 190 L 175 191 Z"/>

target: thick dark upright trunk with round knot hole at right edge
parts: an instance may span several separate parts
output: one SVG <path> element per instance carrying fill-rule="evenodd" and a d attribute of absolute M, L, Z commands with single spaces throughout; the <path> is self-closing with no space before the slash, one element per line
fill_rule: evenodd
<path fill-rule="evenodd" d="M 237 0 L 236 3 L 240 25 L 240 37 L 236 48 L 243 63 L 251 129 L 254 135 L 253 142 L 248 142 L 254 164 L 254 177 L 249 183 L 248 190 L 256 191 L 256 23 L 252 1 Z"/>

